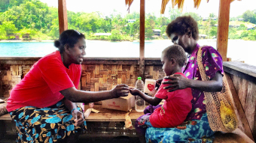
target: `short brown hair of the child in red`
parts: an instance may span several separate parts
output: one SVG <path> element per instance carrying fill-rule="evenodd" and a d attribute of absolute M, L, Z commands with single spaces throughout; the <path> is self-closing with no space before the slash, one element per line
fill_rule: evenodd
<path fill-rule="evenodd" d="M 174 58 L 179 67 L 183 67 L 187 61 L 187 56 L 184 49 L 177 44 L 168 46 L 166 49 L 163 49 L 162 55 L 163 57 L 168 58 L 169 61 Z"/>

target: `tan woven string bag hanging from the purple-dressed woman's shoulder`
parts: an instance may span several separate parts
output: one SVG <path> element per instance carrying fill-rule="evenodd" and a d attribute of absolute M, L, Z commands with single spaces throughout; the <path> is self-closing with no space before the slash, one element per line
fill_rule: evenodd
<path fill-rule="evenodd" d="M 197 52 L 197 62 L 202 81 L 209 81 L 206 69 L 202 62 L 202 47 Z M 213 131 L 230 133 L 238 127 L 238 120 L 233 107 L 233 97 L 227 84 L 226 76 L 223 76 L 223 88 L 221 92 L 203 92 L 206 98 L 206 112 L 209 125 Z"/>

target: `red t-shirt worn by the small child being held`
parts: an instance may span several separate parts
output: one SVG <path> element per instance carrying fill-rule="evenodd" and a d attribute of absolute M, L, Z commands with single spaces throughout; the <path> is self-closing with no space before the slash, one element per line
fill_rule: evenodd
<path fill-rule="evenodd" d="M 184 76 L 183 73 L 175 73 Z M 184 76 L 186 77 L 186 76 Z M 169 79 L 163 79 L 163 82 Z M 191 100 L 192 93 L 191 88 L 185 88 L 168 92 L 169 89 L 163 89 L 170 84 L 162 84 L 154 96 L 165 100 L 163 106 L 154 110 L 149 117 L 153 127 L 166 128 L 176 127 L 183 123 L 187 118 L 187 114 L 192 109 Z"/>

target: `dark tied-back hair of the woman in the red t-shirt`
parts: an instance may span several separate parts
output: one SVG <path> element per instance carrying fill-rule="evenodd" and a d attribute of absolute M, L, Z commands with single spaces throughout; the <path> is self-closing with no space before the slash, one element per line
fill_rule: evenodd
<path fill-rule="evenodd" d="M 59 35 L 59 40 L 54 41 L 54 46 L 56 46 L 56 48 L 59 49 L 59 52 L 62 53 L 66 44 L 69 44 L 69 46 L 73 48 L 75 43 L 78 43 L 78 40 L 81 37 L 84 37 L 85 39 L 84 34 L 79 31 L 69 29 L 63 31 L 62 34 Z"/>

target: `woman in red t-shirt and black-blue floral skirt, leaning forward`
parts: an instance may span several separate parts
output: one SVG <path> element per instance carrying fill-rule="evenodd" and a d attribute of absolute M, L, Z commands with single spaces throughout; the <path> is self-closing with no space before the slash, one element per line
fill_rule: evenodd
<path fill-rule="evenodd" d="M 37 61 L 11 91 L 7 109 L 16 121 L 17 142 L 74 142 L 69 139 L 78 139 L 75 133 L 86 130 L 82 109 L 75 103 L 128 95 L 127 85 L 103 92 L 78 91 L 84 34 L 63 31 L 54 46 L 59 50 Z"/>

